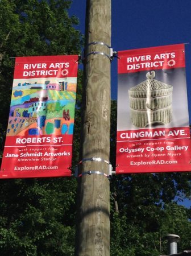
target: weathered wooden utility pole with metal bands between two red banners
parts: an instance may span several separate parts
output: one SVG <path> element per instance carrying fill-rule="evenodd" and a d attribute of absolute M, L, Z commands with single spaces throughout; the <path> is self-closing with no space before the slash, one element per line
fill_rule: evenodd
<path fill-rule="evenodd" d="M 111 0 L 87 0 L 76 256 L 110 255 L 110 40 Z"/>

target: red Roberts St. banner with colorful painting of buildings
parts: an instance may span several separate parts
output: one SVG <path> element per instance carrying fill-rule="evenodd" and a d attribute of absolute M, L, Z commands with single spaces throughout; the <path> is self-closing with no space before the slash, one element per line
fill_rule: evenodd
<path fill-rule="evenodd" d="M 0 178 L 71 175 L 77 59 L 16 57 Z"/>

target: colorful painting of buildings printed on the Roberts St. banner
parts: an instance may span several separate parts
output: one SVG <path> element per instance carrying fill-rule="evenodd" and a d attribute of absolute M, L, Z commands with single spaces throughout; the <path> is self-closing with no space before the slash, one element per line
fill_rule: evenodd
<path fill-rule="evenodd" d="M 7 135 L 72 134 L 76 84 L 18 82 L 13 87 Z"/>

